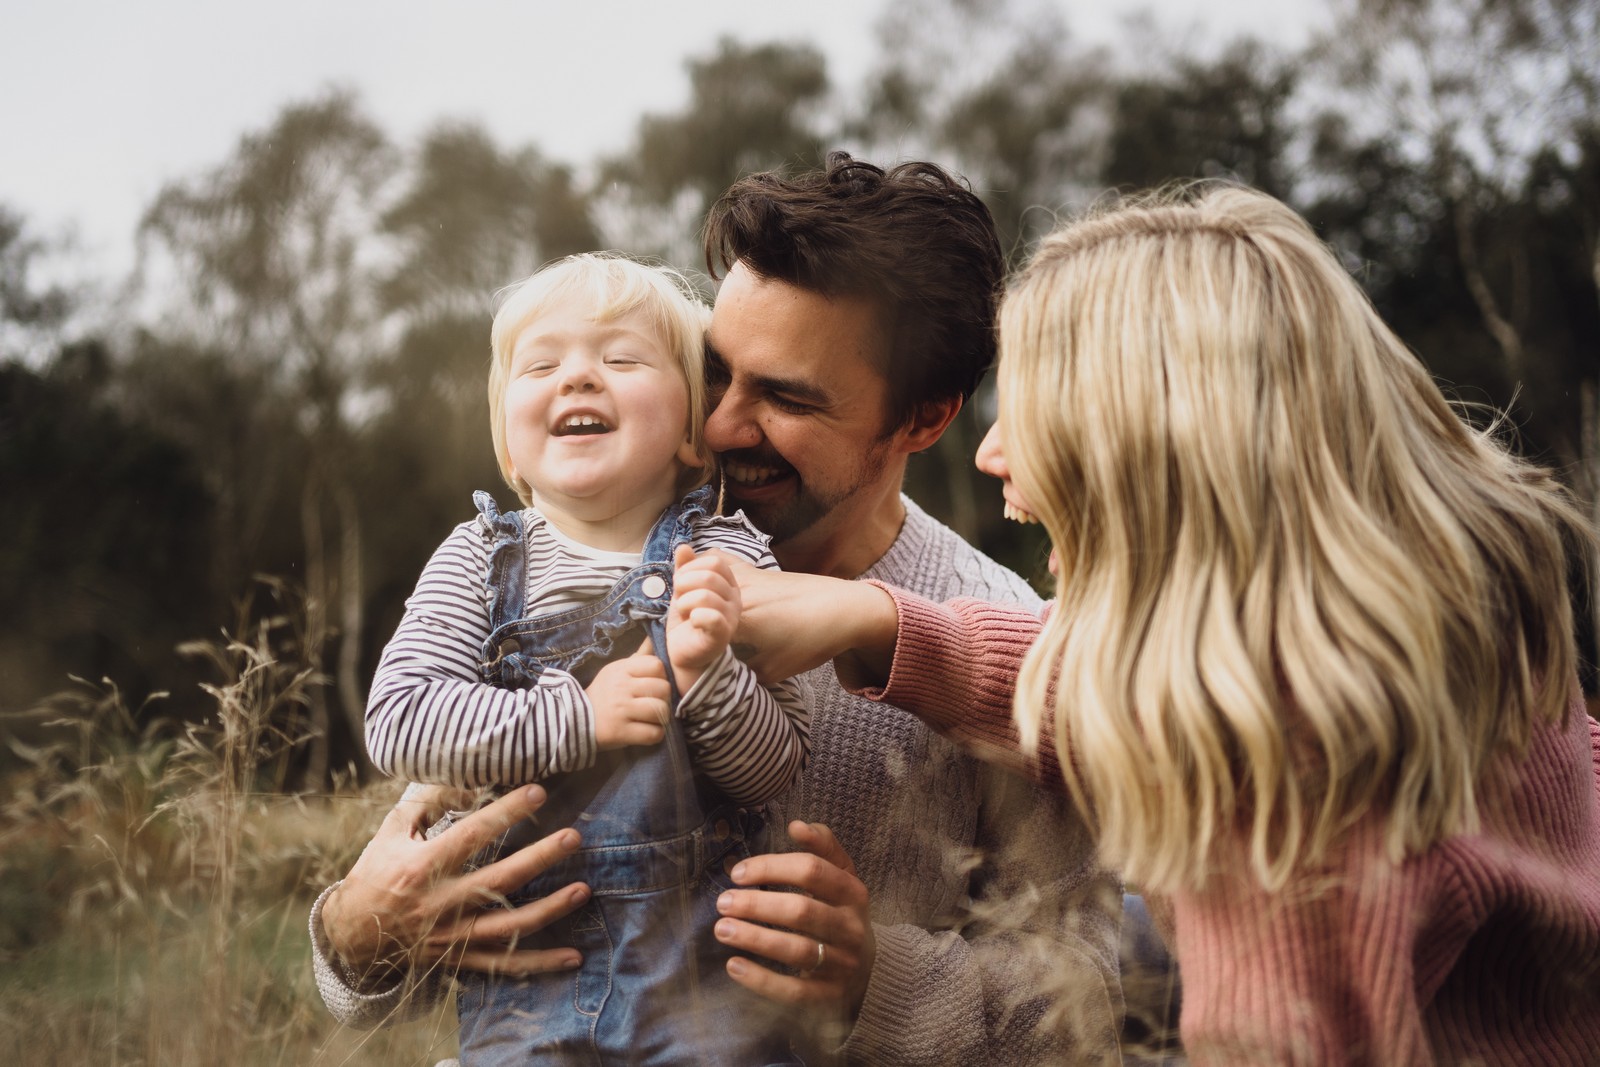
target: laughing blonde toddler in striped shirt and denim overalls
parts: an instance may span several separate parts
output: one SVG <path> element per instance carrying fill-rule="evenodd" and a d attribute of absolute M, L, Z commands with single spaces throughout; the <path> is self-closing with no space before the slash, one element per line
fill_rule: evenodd
<path fill-rule="evenodd" d="M 467 1067 L 798 1062 L 712 936 L 755 808 L 798 777 L 810 737 L 798 685 L 762 686 L 728 648 L 738 589 L 706 550 L 776 563 L 742 514 L 714 514 L 707 320 L 682 277 L 613 254 L 562 259 L 506 296 L 490 427 L 526 507 L 475 494 L 478 517 L 422 569 L 373 680 L 381 769 L 541 781 L 541 821 L 584 837 L 510 901 L 586 881 L 589 904 L 533 945 L 582 963 L 462 974 Z"/>

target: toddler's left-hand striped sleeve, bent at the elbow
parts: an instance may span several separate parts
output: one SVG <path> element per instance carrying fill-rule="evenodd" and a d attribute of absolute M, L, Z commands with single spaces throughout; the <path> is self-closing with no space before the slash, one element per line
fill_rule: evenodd
<path fill-rule="evenodd" d="M 445 785 L 523 785 L 595 760 L 594 709 L 570 673 L 528 689 L 480 681 L 490 635 L 488 547 L 462 523 L 422 568 L 366 702 L 366 747 L 386 774 Z"/>

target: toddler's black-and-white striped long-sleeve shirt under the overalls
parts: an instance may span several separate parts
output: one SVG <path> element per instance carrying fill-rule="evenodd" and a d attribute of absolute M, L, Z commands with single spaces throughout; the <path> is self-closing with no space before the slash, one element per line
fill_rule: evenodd
<path fill-rule="evenodd" d="M 523 510 L 533 614 L 552 614 L 608 590 L 638 565 L 637 552 L 603 552 Z M 774 568 L 766 539 L 733 517 L 694 523 L 696 552 L 718 549 Z M 418 782 L 522 785 L 590 766 L 595 715 L 584 688 L 547 669 L 530 689 L 501 689 L 478 675 L 490 635 L 490 539 L 467 522 L 422 568 L 405 616 L 384 648 L 366 702 L 366 747 L 379 769 Z M 760 803 L 798 777 L 810 752 L 800 683 L 762 686 L 731 653 L 683 694 L 678 715 L 699 769 L 738 803 Z"/>

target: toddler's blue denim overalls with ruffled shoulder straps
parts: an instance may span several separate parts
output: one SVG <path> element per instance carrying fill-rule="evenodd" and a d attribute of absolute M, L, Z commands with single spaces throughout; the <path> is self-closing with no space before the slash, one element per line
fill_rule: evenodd
<path fill-rule="evenodd" d="M 522 515 L 498 512 L 486 493 L 474 501 L 494 537 L 483 681 L 525 689 L 557 667 L 589 685 L 646 633 L 672 678 L 664 625 L 672 552 L 707 510 L 709 488 L 662 514 L 638 566 L 610 592 L 547 616 L 526 613 Z M 674 707 L 678 696 L 672 683 Z M 731 886 L 726 870 L 750 854 L 762 819 L 694 771 L 682 720 L 670 720 L 658 745 L 602 752 L 595 766 L 544 785 L 539 825 L 514 827 L 499 853 L 563 825 L 576 827 L 584 846 L 509 899 L 523 904 L 586 881 L 586 907 L 522 942 L 574 947 L 582 965 L 528 979 L 462 973 L 462 1067 L 800 1064 L 776 1009 L 728 977 L 733 953 L 712 936 L 717 896 Z"/>

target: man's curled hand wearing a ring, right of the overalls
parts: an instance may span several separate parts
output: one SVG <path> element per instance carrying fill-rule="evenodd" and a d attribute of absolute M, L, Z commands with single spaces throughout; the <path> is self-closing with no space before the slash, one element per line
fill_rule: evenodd
<path fill-rule="evenodd" d="M 877 958 L 867 886 L 821 822 L 790 822 L 789 837 L 805 851 L 752 856 L 730 877 L 741 886 L 798 893 L 728 889 L 717 901 L 717 939 L 790 966 L 798 976 L 744 957 L 728 960 L 728 974 L 768 1000 L 835 1009 L 853 1019 Z"/>

